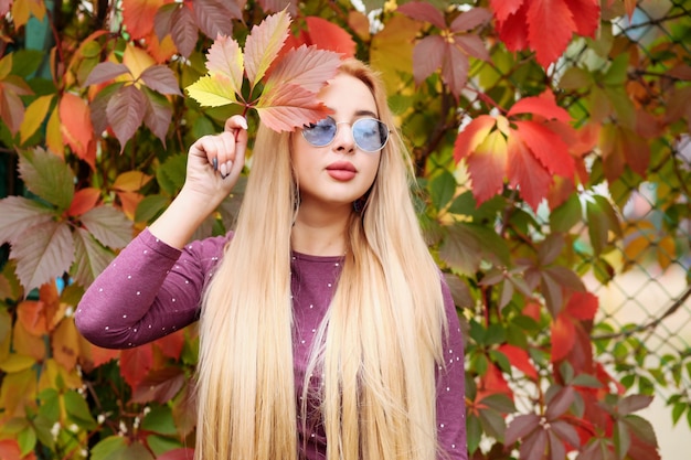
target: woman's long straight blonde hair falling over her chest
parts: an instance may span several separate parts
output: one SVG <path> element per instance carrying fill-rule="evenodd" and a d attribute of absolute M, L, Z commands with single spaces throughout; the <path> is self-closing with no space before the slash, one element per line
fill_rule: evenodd
<path fill-rule="evenodd" d="M 378 76 L 355 60 L 340 72 L 372 90 L 380 118 L 393 127 Z M 447 324 L 439 271 L 410 196 L 412 178 L 392 130 L 365 208 L 350 220 L 343 269 L 308 364 L 323 375 L 328 460 L 437 454 L 435 368 Z M 198 460 L 298 458 L 290 301 L 296 195 L 290 135 L 261 127 L 235 235 L 203 300 Z"/>

